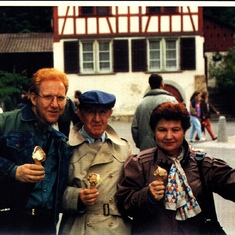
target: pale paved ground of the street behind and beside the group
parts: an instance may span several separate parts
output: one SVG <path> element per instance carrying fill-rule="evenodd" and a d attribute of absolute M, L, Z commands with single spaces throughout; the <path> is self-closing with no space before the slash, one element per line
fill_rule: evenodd
<path fill-rule="evenodd" d="M 214 133 L 218 135 L 218 121 L 212 122 L 212 128 Z M 131 123 L 112 121 L 110 125 L 119 133 L 119 135 L 128 141 L 133 146 L 133 151 L 138 152 L 135 148 L 132 136 L 131 136 Z M 235 168 L 235 122 L 225 123 L 225 133 L 228 137 L 228 142 L 212 141 L 208 133 L 206 133 L 207 141 L 203 143 L 195 142 L 192 144 L 194 148 L 203 149 L 205 152 L 221 158 Z M 189 140 L 189 131 L 186 133 L 186 139 Z M 235 192 L 231 192 L 235 193 Z M 221 198 L 219 195 L 214 195 L 216 210 L 218 219 L 228 235 L 234 235 L 235 233 L 235 204 L 231 201 L 227 201 Z"/>

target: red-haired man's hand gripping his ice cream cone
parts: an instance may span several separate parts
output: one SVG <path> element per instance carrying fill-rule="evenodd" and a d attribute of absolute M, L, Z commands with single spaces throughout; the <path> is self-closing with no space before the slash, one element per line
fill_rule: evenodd
<path fill-rule="evenodd" d="M 37 183 L 44 179 L 45 170 L 42 165 L 24 164 L 17 167 L 15 177 L 24 183 Z"/>

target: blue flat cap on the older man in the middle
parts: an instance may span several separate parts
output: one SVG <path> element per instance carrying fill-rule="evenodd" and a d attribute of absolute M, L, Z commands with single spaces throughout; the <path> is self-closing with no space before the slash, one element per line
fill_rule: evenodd
<path fill-rule="evenodd" d="M 116 97 L 113 94 L 98 90 L 84 92 L 78 97 L 78 99 L 80 102 L 80 108 L 95 105 L 111 109 L 116 102 Z"/>

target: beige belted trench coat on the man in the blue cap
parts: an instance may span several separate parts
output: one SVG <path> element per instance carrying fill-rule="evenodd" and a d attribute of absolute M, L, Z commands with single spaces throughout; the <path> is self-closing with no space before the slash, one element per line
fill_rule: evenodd
<path fill-rule="evenodd" d="M 121 218 L 115 202 L 117 182 L 126 158 L 132 154 L 130 144 L 108 126 L 106 142 L 88 144 L 75 127 L 69 137 L 74 153 L 69 166 L 69 183 L 63 197 L 64 214 L 60 234 L 130 234 L 130 223 Z M 78 205 L 79 192 L 89 187 L 88 175 L 100 174 L 99 196 L 92 206 Z M 105 209 L 105 212 L 104 212 Z"/>

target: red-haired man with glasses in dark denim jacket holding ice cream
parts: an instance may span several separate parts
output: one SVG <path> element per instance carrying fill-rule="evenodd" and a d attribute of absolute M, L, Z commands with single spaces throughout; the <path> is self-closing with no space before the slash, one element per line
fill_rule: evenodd
<path fill-rule="evenodd" d="M 0 114 L 0 234 L 56 234 L 69 149 L 52 125 L 64 111 L 67 90 L 64 73 L 40 69 L 31 79 L 30 104 Z M 46 157 L 36 153 L 35 160 L 38 146 Z"/>

